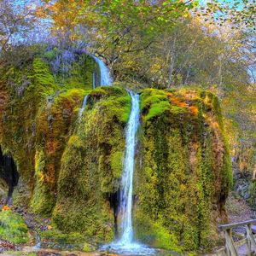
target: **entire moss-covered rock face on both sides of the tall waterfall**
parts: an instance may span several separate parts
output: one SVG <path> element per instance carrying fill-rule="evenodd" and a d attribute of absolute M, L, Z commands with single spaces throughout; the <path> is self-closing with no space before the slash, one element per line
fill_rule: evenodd
<path fill-rule="evenodd" d="M 90 73 L 91 59 L 84 60 Z M 51 216 L 64 232 L 112 241 L 131 98 L 119 86 L 90 90 L 90 75 L 76 66 L 62 86 L 44 59 L 28 66 L 12 69 L 0 81 L 0 145 L 13 155 L 32 191 L 34 212 Z M 30 82 L 20 95 L 24 73 Z M 15 85 L 8 86 L 10 79 Z M 212 247 L 232 183 L 218 98 L 195 90 L 140 94 L 136 239 L 176 251 Z"/>

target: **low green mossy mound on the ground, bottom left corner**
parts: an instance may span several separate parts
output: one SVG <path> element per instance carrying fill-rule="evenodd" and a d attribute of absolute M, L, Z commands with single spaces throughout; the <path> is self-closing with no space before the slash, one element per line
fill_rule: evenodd
<path fill-rule="evenodd" d="M 28 242 L 28 229 L 24 219 L 10 210 L 0 212 L 0 239 L 15 244 Z"/>

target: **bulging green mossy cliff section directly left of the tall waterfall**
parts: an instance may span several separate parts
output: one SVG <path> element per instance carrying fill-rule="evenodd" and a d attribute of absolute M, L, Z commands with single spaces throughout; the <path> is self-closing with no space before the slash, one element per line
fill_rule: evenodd
<path fill-rule="evenodd" d="M 112 241 L 112 198 L 118 192 L 130 97 L 116 87 L 92 91 L 82 121 L 61 158 L 54 220 L 67 232 Z"/>

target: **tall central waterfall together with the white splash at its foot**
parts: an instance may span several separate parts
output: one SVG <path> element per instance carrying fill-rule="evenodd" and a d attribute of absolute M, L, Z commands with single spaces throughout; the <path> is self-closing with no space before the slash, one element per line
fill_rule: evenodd
<path fill-rule="evenodd" d="M 131 113 L 125 132 L 126 152 L 119 200 L 119 214 L 121 215 L 119 230 L 121 230 L 121 236 L 119 240 L 102 247 L 102 249 L 108 248 L 115 253 L 127 253 L 129 255 L 150 255 L 154 253 L 154 249 L 143 246 L 133 240 L 131 214 L 132 190 L 135 148 L 137 143 L 136 134 L 140 117 L 140 98 L 139 95 L 133 95 L 132 92 L 129 93 L 131 96 Z"/>

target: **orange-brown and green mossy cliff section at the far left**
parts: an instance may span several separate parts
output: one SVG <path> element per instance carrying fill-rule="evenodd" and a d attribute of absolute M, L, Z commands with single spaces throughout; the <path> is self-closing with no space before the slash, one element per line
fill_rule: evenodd
<path fill-rule="evenodd" d="M 49 214 L 55 206 L 61 155 L 84 95 L 91 90 L 94 61 L 78 56 L 79 69 L 74 62 L 70 73 L 84 68 L 84 75 L 70 75 L 61 84 L 45 55 L 1 71 L 0 144 L 3 153 L 13 155 L 32 191 L 33 211 Z"/>

